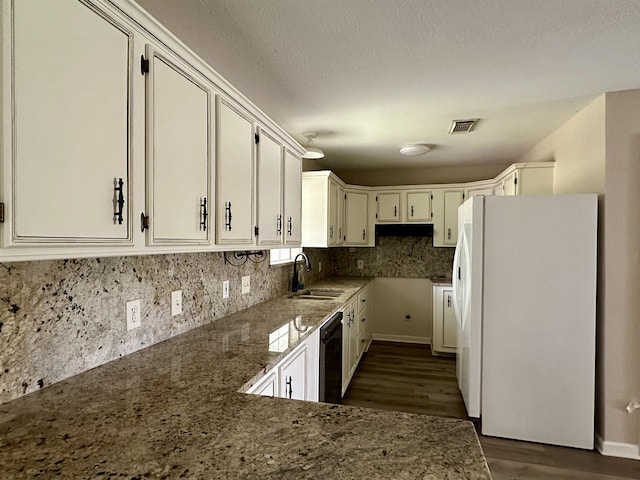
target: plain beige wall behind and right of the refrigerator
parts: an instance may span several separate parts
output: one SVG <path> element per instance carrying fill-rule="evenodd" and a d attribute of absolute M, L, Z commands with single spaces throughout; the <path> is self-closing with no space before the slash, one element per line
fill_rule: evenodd
<path fill-rule="evenodd" d="M 519 161 L 542 160 L 556 161 L 556 194 L 599 194 L 596 433 L 637 455 L 640 412 L 625 406 L 640 400 L 640 90 L 598 97 Z"/>

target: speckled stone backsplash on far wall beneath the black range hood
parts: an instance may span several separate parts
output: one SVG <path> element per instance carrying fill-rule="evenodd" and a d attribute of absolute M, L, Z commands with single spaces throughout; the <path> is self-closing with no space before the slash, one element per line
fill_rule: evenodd
<path fill-rule="evenodd" d="M 454 248 L 434 248 L 432 237 L 378 237 L 374 248 L 332 248 L 333 275 L 451 277 Z M 358 269 L 358 260 L 364 263 Z"/>

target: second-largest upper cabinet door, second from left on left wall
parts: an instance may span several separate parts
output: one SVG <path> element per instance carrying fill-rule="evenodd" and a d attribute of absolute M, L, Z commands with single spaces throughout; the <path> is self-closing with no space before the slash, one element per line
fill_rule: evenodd
<path fill-rule="evenodd" d="M 147 58 L 149 243 L 207 243 L 209 90 L 149 45 Z"/>

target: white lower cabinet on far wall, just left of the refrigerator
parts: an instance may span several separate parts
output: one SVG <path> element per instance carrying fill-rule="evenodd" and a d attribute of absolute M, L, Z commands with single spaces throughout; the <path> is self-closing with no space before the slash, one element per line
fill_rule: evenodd
<path fill-rule="evenodd" d="M 453 309 L 453 288 L 450 285 L 433 287 L 433 338 L 431 351 L 456 353 L 458 324 Z"/>

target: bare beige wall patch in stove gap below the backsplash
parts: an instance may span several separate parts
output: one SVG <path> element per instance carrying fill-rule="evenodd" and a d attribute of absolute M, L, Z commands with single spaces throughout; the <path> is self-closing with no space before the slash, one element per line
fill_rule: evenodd
<path fill-rule="evenodd" d="M 375 278 L 371 318 L 373 338 L 430 343 L 431 297 L 431 281 L 425 278 Z M 407 315 L 411 318 L 407 319 Z"/>

